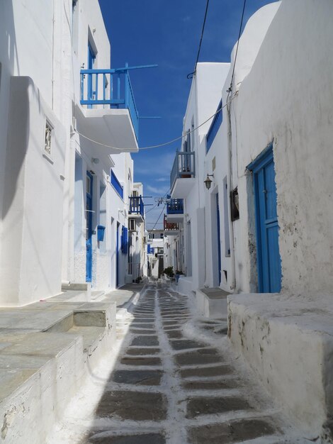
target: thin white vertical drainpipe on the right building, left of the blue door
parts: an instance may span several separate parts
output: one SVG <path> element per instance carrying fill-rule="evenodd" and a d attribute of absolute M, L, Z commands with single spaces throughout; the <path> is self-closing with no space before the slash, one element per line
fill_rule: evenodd
<path fill-rule="evenodd" d="M 229 98 L 229 94 L 228 94 Z M 227 100 L 228 100 L 227 98 Z M 228 102 L 227 102 L 228 103 Z M 232 181 L 232 127 L 231 127 L 231 103 L 227 104 L 227 123 L 228 123 L 228 155 L 227 155 L 227 196 L 228 196 L 228 212 L 230 214 L 229 217 L 229 233 L 230 233 L 230 260 L 231 260 L 231 279 L 230 279 L 230 290 L 235 292 L 236 288 L 236 262 L 235 262 L 235 238 L 234 238 L 234 226 L 231 220 L 231 199 L 230 193 L 233 188 Z"/>

